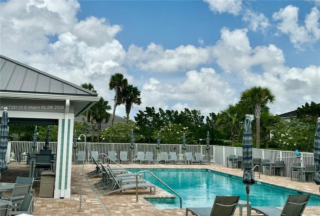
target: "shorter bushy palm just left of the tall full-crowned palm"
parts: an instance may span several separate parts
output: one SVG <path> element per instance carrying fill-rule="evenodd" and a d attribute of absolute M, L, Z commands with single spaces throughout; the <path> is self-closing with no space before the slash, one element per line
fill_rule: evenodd
<path fill-rule="evenodd" d="M 241 129 L 241 115 L 238 115 L 238 106 L 229 105 L 227 109 L 221 110 L 217 115 L 215 128 L 220 132 L 227 132 L 231 134 L 231 144 L 235 146 L 235 138 L 238 137 Z"/>

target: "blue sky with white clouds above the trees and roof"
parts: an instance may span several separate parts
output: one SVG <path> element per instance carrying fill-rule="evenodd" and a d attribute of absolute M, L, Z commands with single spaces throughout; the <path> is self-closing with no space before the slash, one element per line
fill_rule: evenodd
<path fill-rule="evenodd" d="M 1 1 L 0 52 L 80 85 L 113 105 L 122 73 L 155 109 L 235 104 L 254 85 L 281 114 L 320 101 L 320 1 Z M 124 116 L 124 107 L 116 109 Z"/>

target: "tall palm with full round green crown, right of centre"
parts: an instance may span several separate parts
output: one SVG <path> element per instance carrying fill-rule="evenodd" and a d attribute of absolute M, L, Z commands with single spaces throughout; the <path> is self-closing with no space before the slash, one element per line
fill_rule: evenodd
<path fill-rule="evenodd" d="M 241 93 L 241 104 L 255 117 L 255 147 L 260 148 L 260 115 L 262 110 L 267 111 L 268 103 L 273 103 L 274 95 L 266 87 L 253 86 Z"/>

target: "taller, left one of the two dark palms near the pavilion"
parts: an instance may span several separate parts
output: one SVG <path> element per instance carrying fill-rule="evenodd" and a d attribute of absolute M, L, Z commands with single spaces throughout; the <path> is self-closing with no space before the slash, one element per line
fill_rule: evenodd
<path fill-rule="evenodd" d="M 121 73 L 115 73 L 111 75 L 110 81 L 109 81 L 109 90 L 115 91 L 114 95 L 114 106 L 113 106 L 113 112 L 112 112 L 112 121 L 111 125 L 113 126 L 114 122 L 114 113 L 115 113 L 115 108 L 119 104 L 123 104 L 123 98 L 121 98 L 121 95 L 123 95 L 124 89 L 127 87 L 128 81 L 126 78 L 123 78 L 123 75 Z"/>

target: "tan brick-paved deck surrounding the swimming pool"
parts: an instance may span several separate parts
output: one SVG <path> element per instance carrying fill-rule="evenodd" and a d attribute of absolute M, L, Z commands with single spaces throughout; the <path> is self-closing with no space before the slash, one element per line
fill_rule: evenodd
<path fill-rule="evenodd" d="M 115 166 L 115 165 L 111 165 Z M 223 165 L 168 165 L 168 164 L 123 164 L 123 168 L 176 168 L 176 169 L 210 169 L 222 173 L 227 173 L 242 177 L 241 169 L 226 168 Z M 82 205 L 79 211 L 79 197 L 81 190 L 80 170 L 82 165 L 72 165 L 71 171 L 71 197 L 68 199 L 39 198 L 39 182 L 34 183 L 35 200 L 33 216 L 184 216 L 185 209 L 156 209 L 152 204 L 145 201 L 143 197 L 165 197 L 169 196 L 167 192 L 156 188 L 156 195 L 151 195 L 148 190 L 139 189 L 138 203 L 136 203 L 136 194 L 134 190 L 126 190 L 125 192 L 117 192 L 107 196 L 101 196 L 95 193 L 91 188 L 91 184 L 100 180 L 96 178 L 83 178 L 82 189 Z M 84 173 L 93 171 L 95 165 L 85 164 Z M 14 182 L 17 174 L 19 176 L 27 176 L 29 168 L 25 164 L 10 163 L 8 170 L 2 173 L 1 182 Z M 255 173 L 257 175 L 257 172 Z M 276 186 L 290 188 L 310 194 L 319 195 L 319 186 L 313 182 L 298 182 L 296 179 L 292 181 L 287 177 L 260 175 L 255 177 L 256 181 L 269 183 Z M 243 190 L 245 186 L 243 185 Z M 183 195 L 181 195 L 183 196 Z M 212 200 L 213 204 L 213 200 Z M 277 206 L 277 204 L 274 204 Z M 280 207 L 281 208 L 281 207 Z M 259 216 L 254 211 L 252 216 Z M 189 213 L 189 216 L 191 214 Z M 239 208 L 236 209 L 234 216 L 239 216 Z M 246 208 L 243 208 L 243 216 L 246 216 Z M 303 216 L 320 216 L 320 207 L 306 207 Z"/>

